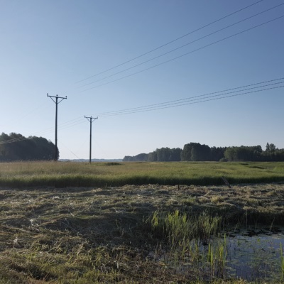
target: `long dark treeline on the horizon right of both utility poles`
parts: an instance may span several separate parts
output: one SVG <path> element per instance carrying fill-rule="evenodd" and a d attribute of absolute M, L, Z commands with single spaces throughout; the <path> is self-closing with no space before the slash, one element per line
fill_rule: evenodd
<path fill-rule="evenodd" d="M 271 143 L 266 150 L 261 146 L 209 147 L 200 143 L 185 144 L 181 148 L 160 148 L 151 153 L 125 156 L 124 162 L 171 162 L 171 161 L 284 161 L 284 149 Z"/>

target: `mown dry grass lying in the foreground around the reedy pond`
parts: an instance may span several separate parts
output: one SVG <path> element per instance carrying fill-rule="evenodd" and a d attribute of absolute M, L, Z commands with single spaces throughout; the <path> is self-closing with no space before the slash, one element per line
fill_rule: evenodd
<path fill-rule="evenodd" d="M 284 185 L 1 188 L 0 283 L 201 283 L 151 257 L 145 219 L 175 210 L 283 225 Z"/>

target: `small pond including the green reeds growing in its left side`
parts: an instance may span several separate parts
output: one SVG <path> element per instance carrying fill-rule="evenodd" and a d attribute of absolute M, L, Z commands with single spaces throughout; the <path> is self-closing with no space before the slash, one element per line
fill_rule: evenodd
<path fill-rule="evenodd" d="M 182 250 L 162 250 L 151 257 L 198 279 L 284 280 L 284 228 L 241 229 L 207 241 L 190 241 Z"/>

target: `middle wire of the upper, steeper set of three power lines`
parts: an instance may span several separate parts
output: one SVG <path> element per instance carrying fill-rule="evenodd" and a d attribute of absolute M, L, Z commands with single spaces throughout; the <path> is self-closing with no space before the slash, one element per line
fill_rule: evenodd
<path fill-rule="evenodd" d="M 219 33 L 220 31 L 224 31 L 226 28 L 231 28 L 232 26 L 236 26 L 236 25 L 239 24 L 239 23 L 242 23 L 242 22 L 247 21 L 247 20 L 249 20 L 249 19 L 251 19 L 251 18 L 254 18 L 254 17 L 256 17 L 256 16 L 259 16 L 259 15 L 261 15 L 262 13 L 266 13 L 267 11 L 271 11 L 271 10 L 273 10 L 273 9 L 276 9 L 276 8 L 278 8 L 279 6 L 282 6 L 282 5 L 284 5 L 284 3 L 278 4 L 277 6 L 273 6 L 273 7 L 269 8 L 269 9 L 266 9 L 265 11 L 261 11 L 261 12 L 259 12 L 259 13 L 256 13 L 256 14 L 254 14 L 253 16 L 249 16 L 248 18 L 244 18 L 244 19 L 241 20 L 241 21 L 237 21 L 236 23 L 232 23 L 231 25 L 225 26 L 224 28 L 220 28 L 219 30 L 214 31 L 214 32 L 212 32 L 212 33 L 208 33 L 207 35 L 204 35 L 204 36 L 202 36 L 202 37 L 200 37 L 200 38 L 197 38 L 196 40 L 192 40 L 190 43 L 185 43 L 184 45 L 181 45 L 181 46 L 179 46 L 178 48 L 174 48 L 173 50 L 169 50 L 169 51 L 166 52 L 166 53 L 163 53 L 163 54 L 161 54 L 161 55 L 157 55 L 157 56 L 155 56 L 154 58 L 151 58 L 151 59 L 149 59 L 149 60 L 143 61 L 143 62 L 138 63 L 138 64 L 136 64 L 136 65 L 133 65 L 133 66 L 131 66 L 131 67 L 129 67 L 129 68 L 126 68 L 126 69 L 124 69 L 124 70 L 121 70 L 121 71 L 119 71 L 119 72 L 116 72 L 116 73 L 114 73 L 114 74 L 112 74 L 112 75 L 109 75 L 109 76 L 107 76 L 107 77 L 103 77 L 103 78 L 98 79 L 98 80 L 93 81 L 93 82 L 89 82 L 89 83 L 87 83 L 87 84 L 83 84 L 83 85 L 80 86 L 79 88 L 88 86 L 89 84 L 94 84 L 94 83 L 96 83 L 96 82 L 100 82 L 100 81 L 105 80 L 105 79 L 108 79 L 108 78 L 110 78 L 110 77 L 114 77 L 115 75 L 118 75 L 118 74 L 120 74 L 120 73 L 129 71 L 129 70 L 131 70 L 131 69 L 133 69 L 133 68 L 135 68 L 135 67 L 138 67 L 138 66 L 140 66 L 140 65 L 146 64 L 146 63 L 151 62 L 151 61 L 153 61 L 153 60 L 155 60 L 155 59 L 161 58 L 161 57 L 163 57 L 163 56 L 165 56 L 165 55 L 168 55 L 168 54 L 170 54 L 170 53 L 173 53 L 173 52 L 176 51 L 176 50 L 179 50 L 180 48 L 184 48 L 184 47 L 187 46 L 187 45 L 190 45 L 190 44 L 192 44 L 192 43 L 196 43 L 197 41 L 202 40 L 202 39 L 204 39 L 204 38 L 207 38 L 207 37 L 209 37 L 210 35 L 214 35 L 215 33 Z"/>

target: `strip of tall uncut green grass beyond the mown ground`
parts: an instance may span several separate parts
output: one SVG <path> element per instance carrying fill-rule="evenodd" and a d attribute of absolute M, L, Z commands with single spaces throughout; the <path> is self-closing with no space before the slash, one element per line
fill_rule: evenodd
<path fill-rule="evenodd" d="M 282 182 L 284 163 L 0 163 L 2 186 L 92 187 Z"/>

